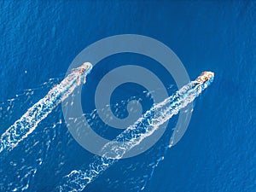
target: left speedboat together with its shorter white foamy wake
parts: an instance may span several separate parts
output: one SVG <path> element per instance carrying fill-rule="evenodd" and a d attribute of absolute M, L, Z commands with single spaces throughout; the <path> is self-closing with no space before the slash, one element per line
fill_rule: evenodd
<path fill-rule="evenodd" d="M 20 119 L 16 120 L 15 124 L 11 125 L 0 137 L 0 153 L 3 150 L 9 151 L 15 148 L 20 141 L 31 134 L 40 121 L 46 118 L 58 104 L 64 101 L 79 86 L 81 79 L 83 79 L 82 83 L 85 83 L 86 75 L 90 73 L 91 68 L 92 65 L 85 62 L 81 67 L 73 69 L 60 84 L 49 90 L 43 99 L 39 100 Z"/>

